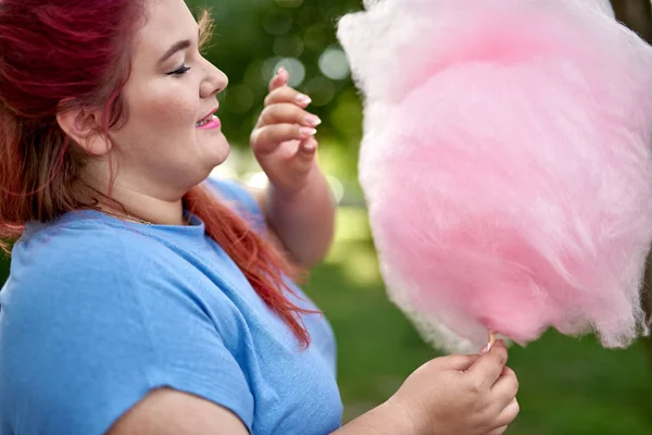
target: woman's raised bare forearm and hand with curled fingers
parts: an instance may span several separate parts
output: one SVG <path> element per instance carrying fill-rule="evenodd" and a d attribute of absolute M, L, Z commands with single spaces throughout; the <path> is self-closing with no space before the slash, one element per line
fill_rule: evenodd
<path fill-rule="evenodd" d="M 321 120 L 305 109 L 310 98 L 288 86 L 279 70 L 269 82 L 251 148 L 269 179 L 255 195 L 269 228 L 292 260 L 310 269 L 326 256 L 335 226 L 335 201 L 317 163 L 314 138 Z"/>

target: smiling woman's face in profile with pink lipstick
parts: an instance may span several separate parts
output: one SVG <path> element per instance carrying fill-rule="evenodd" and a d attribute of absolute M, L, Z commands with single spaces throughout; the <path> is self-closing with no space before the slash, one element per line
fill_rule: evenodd
<path fill-rule="evenodd" d="M 228 80 L 199 53 L 199 28 L 184 0 L 146 0 L 146 14 L 123 91 L 126 123 L 111 133 L 116 183 L 176 200 L 228 156 L 212 116 Z"/>

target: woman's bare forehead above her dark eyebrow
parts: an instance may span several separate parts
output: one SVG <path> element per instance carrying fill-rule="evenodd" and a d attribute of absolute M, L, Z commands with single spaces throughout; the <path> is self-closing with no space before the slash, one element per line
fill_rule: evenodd
<path fill-rule="evenodd" d="M 136 32 L 137 58 L 155 58 L 173 44 L 197 38 L 197 22 L 184 0 L 145 0 L 145 20 Z"/>

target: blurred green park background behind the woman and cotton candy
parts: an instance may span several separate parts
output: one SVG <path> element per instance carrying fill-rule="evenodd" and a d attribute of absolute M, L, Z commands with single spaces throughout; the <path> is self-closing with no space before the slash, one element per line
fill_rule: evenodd
<path fill-rule="evenodd" d="M 267 82 L 280 65 L 313 99 L 322 117 L 319 161 L 339 200 L 336 243 L 314 270 L 308 293 L 330 320 L 339 346 L 338 377 L 350 420 L 386 400 L 437 353 L 392 306 L 378 273 L 366 210 L 356 183 L 361 101 L 335 38 L 337 17 L 360 0 L 203 0 L 216 21 L 208 58 L 230 79 L 221 119 L 234 146 L 222 176 L 265 183 L 248 150 Z M 0 277 L 8 261 L 0 262 Z M 652 434 L 652 363 L 642 343 L 602 349 L 594 337 L 549 333 L 514 347 L 521 414 L 507 431 L 523 435 Z"/>

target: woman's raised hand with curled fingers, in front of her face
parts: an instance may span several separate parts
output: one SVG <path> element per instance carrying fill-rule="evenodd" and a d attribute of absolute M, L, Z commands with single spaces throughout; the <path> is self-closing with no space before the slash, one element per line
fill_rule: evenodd
<path fill-rule="evenodd" d="M 306 186 L 316 167 L 314 135 L 322 121 L 305 111 L 310 97 L 289 87 L 288 77 L 281 67 L 269 82 L 269 94 L 250 142 L 272 186 L 293 194 Z"/>

